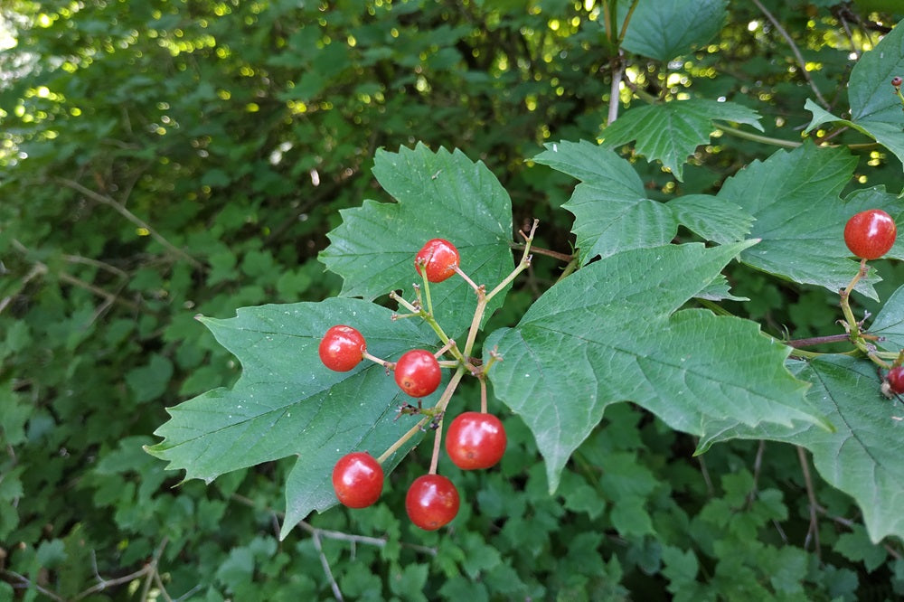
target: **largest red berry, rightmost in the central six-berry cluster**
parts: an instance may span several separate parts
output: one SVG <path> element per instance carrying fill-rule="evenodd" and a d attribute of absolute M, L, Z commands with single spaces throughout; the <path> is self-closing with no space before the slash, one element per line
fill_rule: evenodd
<path fill-rule="evenodd" d="M 505 428 L 493 414 L 463 412 L 446 433 L 446 453 L 462 470 L 489 468 L 505 453 Z"/>

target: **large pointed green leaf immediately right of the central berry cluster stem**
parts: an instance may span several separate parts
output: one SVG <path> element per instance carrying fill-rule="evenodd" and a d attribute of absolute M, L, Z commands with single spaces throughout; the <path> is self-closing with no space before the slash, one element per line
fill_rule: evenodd
<path fill-rule="evenodd" d="M 721 420 L 825 426 L 805 384 L 784 367 L 788 348 L 749 321 L 676 311 L 752 244 L 617 253 L 551 287 L 517 326 L 488 337 L 485 349 L 504 358 L 489 372 L 494 394 L 532 430 L 551 491 L 619 401 L 696 435 Z"/>

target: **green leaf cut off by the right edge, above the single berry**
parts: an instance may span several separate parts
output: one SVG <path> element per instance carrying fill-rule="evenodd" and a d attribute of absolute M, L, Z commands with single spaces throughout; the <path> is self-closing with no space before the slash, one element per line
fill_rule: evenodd
<path fill-rule="evenodd" d="M 904 164 L 904 107 L 891 87 L 891 78 L 904 73 L 904 27 L 900 25 L 854 65 L 848 82 L 851 118 L 835 117 L 806 99 L 804 108 L 813 113 L 813 119 L 805 131 L 828 122 L 853 127 L 888 148 Z"/>

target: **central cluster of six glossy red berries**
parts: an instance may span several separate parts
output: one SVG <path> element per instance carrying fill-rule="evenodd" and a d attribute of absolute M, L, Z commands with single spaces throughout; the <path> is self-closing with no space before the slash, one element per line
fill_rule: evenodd
<path fill-rule="evenodd" d="M 433 239 L 420 249 L 414 265 L 422 277 L 438 283 L 457 273 L 458 262 L 458 249 L 452 243 Z M 367 353 L 363 335 L 348 325 L 335 325 L 327 330 L 320 342 L 319 353 L 324 365 L 337 372 L 348 372 L 363 359 L 379 362 L 394 372 L 400 389 L 416 399 L 437 390 L 442 380 L 438 354 L 413 349 L 403 353 L 394 363 L 383 362 Z M 492 414 L 466 411 L 452 420 L 445 442 L 447 455 L 459 468 L 489 468 L 504 454 L 505 429 Z M 380 461 L 367 452 L 346 454 L 334 466 L 333 488 L 339 502 L 349 508 L 370 506 L 382 493 Z M 427 531 L 437 530 L 452 521 L 459 505 L 455 484 L 437 474 L 419 476 L 410 484 L 405 497 L 405 510 L 411 522 Z"/>

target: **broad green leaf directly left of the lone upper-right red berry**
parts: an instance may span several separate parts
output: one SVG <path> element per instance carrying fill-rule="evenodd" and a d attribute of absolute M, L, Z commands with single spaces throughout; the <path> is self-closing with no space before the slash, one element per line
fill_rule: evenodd
<path fill-rule="evenodd" d="M 852 205 L 839 198 L 857 159 L 846 150 L 806 144 L 779 150 L 730 177 L 718 197 L 739 204 L 756 218 L 750 236 L 762 240 L 741 253 L 753 268 L 801 284 L 836 292 L 859 269 L 844 245 L 844 224 Z M 856 290 L 876 298 L 871 274 Z"/>

